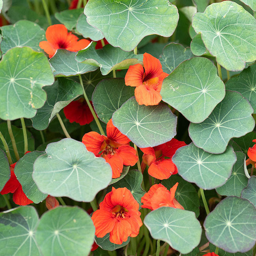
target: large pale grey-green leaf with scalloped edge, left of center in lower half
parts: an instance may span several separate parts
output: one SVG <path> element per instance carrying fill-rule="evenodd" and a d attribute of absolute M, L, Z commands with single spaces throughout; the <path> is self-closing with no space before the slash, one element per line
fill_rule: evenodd
<path fill-rule="evenodd" d="M 110 165 L 79 141 L 63 139 L 48 144 L 45 151 L 35 160 L 33 172 L 43 193 L 90 202 L 111 181 Z"/>

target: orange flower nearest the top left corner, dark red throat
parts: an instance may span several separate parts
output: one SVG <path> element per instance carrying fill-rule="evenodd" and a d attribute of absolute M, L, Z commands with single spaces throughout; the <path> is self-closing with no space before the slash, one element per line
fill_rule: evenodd
<path fill-rule="evenodd" d="M 77 52 L 90 44 L 90 41 L 87 39 L 78 41 L 79 38 L 73 35 L 72 32 L 67 32 L 67 28 L 62 24 L 49 26 L 45 36 L 47 41 L 41 41 L 39 47 L 49 55 L 49 58 L 52 58 L 57 49 Z"/>

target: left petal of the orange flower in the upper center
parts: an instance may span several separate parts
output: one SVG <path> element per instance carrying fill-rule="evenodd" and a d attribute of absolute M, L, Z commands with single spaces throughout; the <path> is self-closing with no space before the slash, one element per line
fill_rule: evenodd
<path fill-rule="evenodd" d="M 135 64 L 129 67 L 125 75 L 125 85 L 140 86 L 143 83 L 144 69 L 141 64 Z"/>

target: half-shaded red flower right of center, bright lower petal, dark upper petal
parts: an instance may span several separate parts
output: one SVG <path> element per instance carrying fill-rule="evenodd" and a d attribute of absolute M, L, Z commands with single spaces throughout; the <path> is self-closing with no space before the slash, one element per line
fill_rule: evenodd
<path fill-rule="evenodd" d="M 177 167 L 172 163 L 172 156 L 176 150 L 186 143 L 172 139 L 154 148 L 140 148 L 143 151 L 141 169 L 144 171 L 148 165 L 148 174 L 159 180 L 168 179 L 172 174 L 177 174 Z M 166 158 L 169 157 L 169 158 Z"/>

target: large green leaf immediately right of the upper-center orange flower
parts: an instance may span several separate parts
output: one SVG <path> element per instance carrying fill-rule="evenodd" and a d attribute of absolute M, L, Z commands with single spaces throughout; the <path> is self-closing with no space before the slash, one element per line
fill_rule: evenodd
<path fill-rule="evenodd" d="M 212 61 L 194 57 L 183 61 L 164 79 L 160 94 L 190 122 L 199 123 L 224 98 L 225 86 Z"/>

